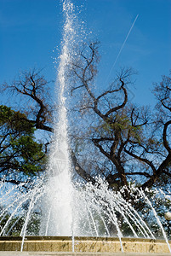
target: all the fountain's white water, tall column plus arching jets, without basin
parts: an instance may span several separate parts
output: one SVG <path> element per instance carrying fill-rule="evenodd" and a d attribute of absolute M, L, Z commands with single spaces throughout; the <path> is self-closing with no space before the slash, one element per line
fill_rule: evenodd
<path fill-rule="evenodd" d="M 0 236 L 117 236 L 122 245 L 123 236 L 155 239 L 151 228 L 136 210 L 136 201 L 145 201 L 149 215 L 157 219 L 162 236 L 168 243 L 151 201 L 144 192 L 130 187 L 134 204 L 125 201 L 121 192 L 108 188 L 96 177 L 96 183 L 71 183 L 71 163 L 67 135 L 67 68 L 74 54 L 77 40 L 77 15 L 71 1 L 63 2 L 65 24 L 58 69 L 57 88 L 60 87 L 58 122 L 54 123 L 54 138 L 48 160 L 46 182 L 37 179 L 34 189 L 23 192 L 26 183 L 6 186 L 5 177 L 0 183 Z M 20 192 L 20 190 L 22 190 Z M 162 191 L 162 190 L 161 190 Z M 158 192 L 163 197 L 163 192 Z M 135 198 L 136 195 L 136 198 Z M 164 195 L 165 196 L 165 195 Z M 144 213 L 143 213 L 144 214 Z M 37 217 L 38 216 L 38 217 Z M 39 216 L 42 216 L 41 218 Z M 35 224 L 35 219 L 37 224 Z M 73 239 L 74 241 L 74 239 Z M 169 247 L 169 244 L 168 244 Z M 170 250 L 170 248 L 169 248 Z"/>

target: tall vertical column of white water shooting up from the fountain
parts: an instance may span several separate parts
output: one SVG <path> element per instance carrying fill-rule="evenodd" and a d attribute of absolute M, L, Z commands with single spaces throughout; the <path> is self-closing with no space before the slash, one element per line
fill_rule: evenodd
<path fill-rule="evenodd" d="M 60 86 L 58 123 L 54 125 L 54 143 L 51 147 L 48 164 L 48 196 L 46 208 L 48 211 L 47 235 L 71 236 L 72 223 L 72 185 L 71 164 L 67 136 L 66 113 L 66 70 L 71 61 L 71 48 L 74 42 L 74 10 L 70 1 L 63 3 L 66 21 L 60 55 L 60 67 L 56 86 Z"/>

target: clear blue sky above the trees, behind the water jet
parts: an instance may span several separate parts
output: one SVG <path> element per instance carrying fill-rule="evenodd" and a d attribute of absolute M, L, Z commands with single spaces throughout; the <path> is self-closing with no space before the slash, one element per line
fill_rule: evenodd
<path fill-rule="evenodd" d="M 73 0 L 88 32 L 100 40 L 97 87 L 107 88 L 119 67 L 134 67 L 133 101 L 154 104 L 152 83 L 171 68 L 171 0 Z M 0 0 L 0 83 L 20 71 L 44 67 L 55 79 L 53 57 L 59 55 L 62 32 L 60 0 Z M 133 30 L 117 58 L 136 15 Z M 54 52 L 53 52 L 54 50 Z M 110 73 L 111 72 L 111 73 Z M 110 76 L 109 76 L 110 73 Z"/>

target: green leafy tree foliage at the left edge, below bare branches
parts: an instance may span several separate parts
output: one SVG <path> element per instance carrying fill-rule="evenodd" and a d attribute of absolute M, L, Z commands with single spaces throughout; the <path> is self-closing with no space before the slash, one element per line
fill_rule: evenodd
<path fill-rule="evenodd" d="M 43 144 L 35 141 L 34 131 L 24 113 L 0 106 L 0 172 L 35 175 L 43 171 Z"/>

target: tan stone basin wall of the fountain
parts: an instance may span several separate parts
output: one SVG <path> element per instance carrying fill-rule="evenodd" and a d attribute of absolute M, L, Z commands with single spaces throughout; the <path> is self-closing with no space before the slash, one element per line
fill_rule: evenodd
<path fill-rule="evenodd" d="M 0 251 L 20 251 L 22 237 L 1 236 Z M 144 238 L 122 238 L 124 253 L 169 253 L 164 240 Z M 169 241 L 171 245 L 171 241 Z M 26 236 L 23 251 L 27 252 L 71 252 L 71 236 Z M 75 252 L 121 253 L 117 237 L 74 237 Z"/>

